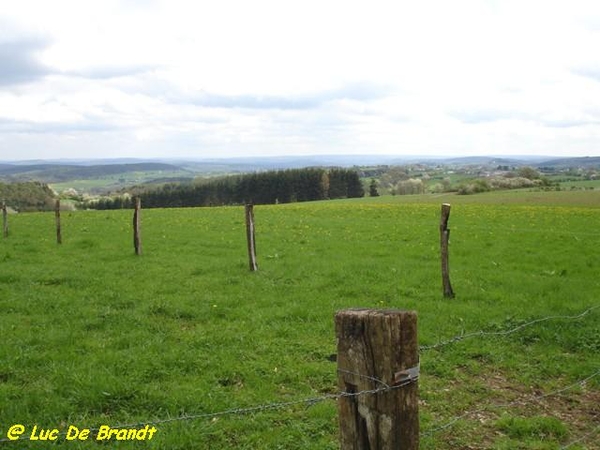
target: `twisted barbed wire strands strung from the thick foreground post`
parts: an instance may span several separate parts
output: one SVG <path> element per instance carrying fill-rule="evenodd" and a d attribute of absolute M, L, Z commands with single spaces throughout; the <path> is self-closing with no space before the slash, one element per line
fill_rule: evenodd
<path fill-rule="evenodd" d="M 477 332 L 473 332 L 473 333 L 466 333 L 466 334 L 463 333 L 463 334 L 457 335 L 451 339 L 440 341 L 434 345 L 421 346 L 419 348 L 419 350 L 421 352 L 425 352 L 425 351 L 429 351 L 429 350 L 440 349 L 442 347 L 445 347 L 445 346 L 448 346 L 451 344 L 456 344 L 458 342 L 461 342 L 465 339 L 469 339 L 472 337 L 508 336 L 508 335 L 517 333 L 521 330 L 524 330 L 528 327 L 531 327 L 531 326 L 534 326 L 534 325 L 537 325 L 537 324 L 540 324 L 543 322 L 548 322 L 551 320 L 575 321 L 575 320 L 579 320 L 579 319 L 582 319 L 582 318 L 590 315 L 591 312 L 593 312 L 599 308 L 600 308 L 600 305 L 595 305 L 595 306 L 592 306 L 592 307 L 586 309 L 585 311 L 583 311 L 579 314 L 576 314 L 576 315 L 557 315 L 557 316 L 548 316 L 548 317 L 538 318 L 538 319 L 531 320 L 527 323 L 521 324 L 519 326 L 513 327 L 511 329 L 502 330 L 502 331 L 483 331 L 483 330 L 481 330 L 481 331 L 477 331 Z M 416 378 L 411 378 L 411 379 L 408 379 L 397 385 L 390 386 L 390 385 L 386 384 L 385 382 L 383 382 L 382 380 L 379 380 L 372 376 L 367 376 L 364 374 L 359 374 L 359 373 L 347 371 L 344 369 L 338 369 L 338 372 L 351 374 L 351 375 L 355 375 L 355 376 L 358 376 L 361 378 L 368 379 L 373 382 L 374 387 L 373 387 L 373 389 L 363 390 L 363 391 L 359 391 L 359 392 L 342 391 L 342 392 L 338 392 L 338 393 L 334 393 L 334 394 L 326 394 L 326 395 L 322 395 L 322 396 L 309 397 L 309 398 L 292 400 L 292 401 L 287 401 L 287 402 L 273 402 L 273 403 L 266 403 L 266 404 L 262 404 L 262 405 L 255 405 L 255 406 L 249 406 L 249 407 L 230 408 L 230 409 L 225 409 L 222 411 L 217 411 L 217 412 L 212 412 L 212 413 L 184 414 L 184 415 L 179 415 L 177 417 L 151 419 L 151 420 L 144 421 L 144 422 L 116 425 L 113 428 L 134 429 L 134 428 L 139 428 L 139 427 L 142 427 L 145 425 L 162 425 L 162 424 L 168 424 L 168 423 L 173 423 L 173 422 L 184 422 L 184 421 L 192 421 L 192 420 L 210 420 L 210 419 L 215 419 L 215 418 L 224 417 L 224 416 L 257 414 L 257 413 L 261 413 L 261 412 L 265 412 L 265 411 L 291 408 L 291 407 L 300 406 L 300 405 L 304 405 L 305 407 L 311 407 L 318 403 L 322 403 L 325 401 L 331 401 L 331 400 L 337 401 L 341 398 L 347 398 L 347 397 L 356 398 L 356 397 L 361 397 L 361 396 L 365 396 L 365 395 L 382 394 L 382 393 L 389 392 L 389 391 L 392 391 L 395 389 L 400 389 L 402 387 L 405 387 L 411 383 L 418 381 L 418 376 L 417 376 Z M 422 431 L 420 436 L 421 436 L 421 438 L 424 438 L 424 439 L 430 438 L 437 433 L 440 433 L 442 431 L 445 431 L 445 430 L 453 427 L 455 424 L 457 424 L 461 420 L 466 419 L 470 416 L 475 416 L 482 412 L 486 412 L 486 411 L 490 411 L 490 410 L 498 410 L 498 409 L 507 409 L 507 408 L 512 408 L 515 406 L 527 406 L 529 404 L 532 404 L 535 402 L 540 402 L 547 398 L 556 397 L 560 394 L 563 394 L 567 391 L 572 391 L 576 388 L 583 388 L 589 381 L 591 381 L 592 379 L 599 377 L 599 376 L 600 376 L 600 368 L 598 370 L 596 370 L 595 372 L 593 372 L 592 374 L 586 376 L 585 378 L 582 378 L 575 383 L 571 383 L 567 386 L 556 389 L 550 393 L 540 394 L 537 396 L 528 397 L 527 399 L 515 400 L 512 402 L 508 402 L 508 403 L 489 404 L 489 405 L 486 405 L 486 406 L 483 406 L 480 408 L 476 408 L 473 410 L 463 412 L 462 414 L 459 414 L 459 415 L 451 418 L 450 420 L 448 420 L 447 422 L 445 422 L 441 425 L 437 425 L 437 426 L 429 428 L 428 430 Z M 94 433 L 98 433 L 99 430 L 100 430 L 99 428 L 92 428 L 92 429 L 90 429 L 90 432 L 92 434 L 94 434 Z M 593 428 L 591 431 L 579 436 L 578 438 L 570 441 L 568 444 L 566 444 L 560 448 L 561 448 L 561 450 L 568 449 L 568 448 L 573 447 L 574 445 L 588 442 L 589 440 L 594 438 L 599 433 L 600 433 L 600 426 L 597 426 L 597 427 Z M 64 437 L 64 436 L 66 436 L 66 434 L 67 434 L 67 432 L 63 431 L 63 432 L 59 433 L 57 436 Z M 29 440 L 29 438 L 27 436 L 23 436 L 19 440 L 12 440 L 9 438 L 0 438 L 0 444 L 15 443 L 15 442 L 24 441 L 24 440 Z"/>

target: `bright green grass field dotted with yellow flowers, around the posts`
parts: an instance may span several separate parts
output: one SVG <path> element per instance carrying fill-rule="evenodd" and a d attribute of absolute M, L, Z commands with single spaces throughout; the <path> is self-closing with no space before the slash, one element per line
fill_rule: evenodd
<path fill-rule="evenodd" d="M 15 424 L 27 437 L 36 425 L 156 423 L 150 441 L 108 445 L 338 448 L 335 402 L 302 400 L 337 393 L 334 313 L 372 307 L 416 310 L 422 346 L 580 315 L 424 350 L 421 448 L 579 440 L 568 448 L 598 449 L 600 375 L 578 382 L 600 369 L 599 194 L 257 206 L 256 273 L 242 207 L 144 210 L 140 257 L 131 211 L 64 213 L 61 246 L 53 214 L 10 216 L 0 240 L 0 440 Z M 452 300 L 441 295 L 442 202 L 453 205 Z M 189 416 L 200 417 L 168 421 Z M 96 446 L 64 435 L 0 442 Z"/>

